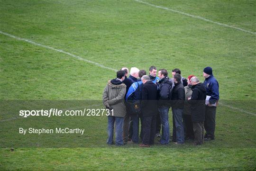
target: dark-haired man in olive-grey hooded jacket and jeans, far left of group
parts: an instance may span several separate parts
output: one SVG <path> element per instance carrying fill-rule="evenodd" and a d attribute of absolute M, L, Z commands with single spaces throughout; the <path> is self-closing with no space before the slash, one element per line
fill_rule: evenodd
<path fill-rule="evenodd" d="M 123 145 L 123 119 L 126 115 L 124 97 L 126 85 L 122 82 L 125 79 L 125 72 L 118 71 L 117 78 L 108 81 L 103 92 L 103 104 L 110 109 L 108 116 L 108 139 L 107 144 L 113 144 L 114 124 L 116 122 L 116 145 Z"/>

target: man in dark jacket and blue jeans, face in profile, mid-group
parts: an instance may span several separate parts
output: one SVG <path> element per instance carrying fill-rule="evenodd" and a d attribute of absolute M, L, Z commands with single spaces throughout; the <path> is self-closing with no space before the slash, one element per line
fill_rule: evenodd
<path fill-rule="evenodd" d="M 162 133 L 160 139 L 160 144 L 169 144 L 170 141 L 170 128 L 169 128 L 169 108 L 170 97 L 172 97 L 172 81 L 168 77 L 168 72 L 165 69 L 161 69 L 158 71 L 158 77 L 160 81 L 156 84 L 158 85 L 158 112 L 160 115 L 161 123 L 162 123 Z"/>

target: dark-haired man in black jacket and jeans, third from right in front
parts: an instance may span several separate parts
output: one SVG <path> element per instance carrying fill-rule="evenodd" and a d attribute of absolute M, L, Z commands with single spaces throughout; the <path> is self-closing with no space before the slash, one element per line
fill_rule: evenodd
<path fill-rule="evenodd" d="M 174 89 L 172 94 L 173 111 L 173 142 L 174 144 L 184 143 L 184 127 L 182 122 L 184 108 L 185 90 L 181 83 L 181 75 L 174 75 Z"/>

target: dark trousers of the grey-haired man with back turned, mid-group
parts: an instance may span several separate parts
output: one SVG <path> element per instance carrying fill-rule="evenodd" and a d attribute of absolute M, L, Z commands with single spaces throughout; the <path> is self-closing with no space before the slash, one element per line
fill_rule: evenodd
<path fill-rule="evenodd" d="M 143 144 L 154 144 L 156 116 L 143 117 Z"/>

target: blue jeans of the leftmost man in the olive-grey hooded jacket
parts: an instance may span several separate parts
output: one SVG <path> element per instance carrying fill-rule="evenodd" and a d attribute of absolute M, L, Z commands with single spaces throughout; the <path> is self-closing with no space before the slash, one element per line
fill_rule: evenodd
<path fill-rule="evenodd" d="M 113 144 L 114 123 L 116 122 L 116 145 L 123 145 L 123 117 L 108 116 L 107 144 Z"/>

